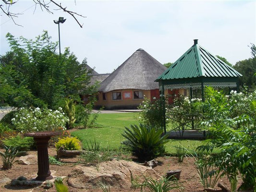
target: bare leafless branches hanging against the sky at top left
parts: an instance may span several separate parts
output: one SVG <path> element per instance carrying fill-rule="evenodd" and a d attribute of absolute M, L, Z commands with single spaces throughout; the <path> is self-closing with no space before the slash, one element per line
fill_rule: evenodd
<path fill-rule="evenodd" d="M 68 10 L 66 6 L 62 6 L 61 2 L 56 2 L 56 0 L 33 0 L 33 1 L 36 4 L 36 8 L 37 6 L 39 6 L 42 11 L 46 10 L 48 13 L 51 13 L 51 14 L 53 14 L 53 11 L 52 9 L 50 9 L 50 5 L 53 5 L 52 7 L 56 7 L 57 10 L 62 10 L 63 12 L 67 12 L 69 15 L 73 17 L 73 19 L 77 22 L 77 24 L 79 24 L 80 27 L 83 27 L 83 24 L 80 24 L 80 22 L 77 20 L 77 16 L 79 17 L 84 17 L 84 16 L 79 13 Z M 18 17 L 18 15 L 20 14 L 20 13 L 11 12 L 12 10 L 11 6 L 15 5 L 16 3 L 18 3 L 18 0 L 2 0 L 2 4 L 0 4 L 0 9 L 2 10 L 2 12 L 8 17 L 10 17 L 14 24 L 16 24 L 14 21 L 14 18 Z"/>

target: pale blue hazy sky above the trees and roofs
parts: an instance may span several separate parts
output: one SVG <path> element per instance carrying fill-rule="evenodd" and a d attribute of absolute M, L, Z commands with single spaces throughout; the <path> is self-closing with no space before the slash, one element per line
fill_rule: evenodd
<path fill-rule="evenodd" d="M 47 30 L 58 41 L 53 20 L 59 17 L 67 19 L 60 24 L 61 52 L 69 47 L 79 62 L 87 58 L 98 73 L 113 72 L 138 48 L 163 64 L 175 62 L 198 39 L 203 48 L 235 64 L 250 58 L 248 46 L 256 44 L 256 0 L 56 1 L 85 16 L 77 16 L 83 28 L 52 3 L 53 14 L 32 0 L 18 0 L 10 10 L 22 13 L 15 18 L 22 27 L 0 12 L 0 55 L 10 50 L 8 32 L 35 39 Z"/>

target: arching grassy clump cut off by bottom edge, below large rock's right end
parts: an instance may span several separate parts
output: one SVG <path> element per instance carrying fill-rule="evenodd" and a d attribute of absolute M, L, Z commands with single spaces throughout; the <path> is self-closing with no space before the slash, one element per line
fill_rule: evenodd
<path fill-rule="evenodd" d="M 183 191 L 183 188 L 179 186 L 177 181 L 170 180 L 170 178 L 161 178 L 155 180 L 153 178 L 146 178 L 141 184 L 141 192 L 170 192 L 173 189 Z"/>

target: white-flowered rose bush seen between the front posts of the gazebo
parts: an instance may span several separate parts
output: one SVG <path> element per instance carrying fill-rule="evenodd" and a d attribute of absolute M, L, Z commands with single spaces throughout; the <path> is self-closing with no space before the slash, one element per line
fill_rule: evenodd
<path fill-rule="evenodd" d="M 194 106 L 195 102 L 201 102 L 199 98 L 179 96 L 174 99 L 173 106 L 166 110 L 167 122 L 171 123 L 171 129 L 179 131 L 180 136 L 187 129 L 200 129 L 202 114 Z"/>

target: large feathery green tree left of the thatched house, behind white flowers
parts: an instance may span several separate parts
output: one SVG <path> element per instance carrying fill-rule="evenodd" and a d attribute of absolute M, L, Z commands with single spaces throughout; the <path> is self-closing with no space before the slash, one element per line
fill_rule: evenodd
<path fill-rule="evenodd" d="M 0 57 L 0 100 L 14 107 L 64 106 L 65 98 L 80 102 L 93 95 L 86 60 L 79 63 L 68 48 L 59 55 L 47 31 L 35 41 L 7 34 L 11 51 Z M 15 102 L 19 101 L 19 103 Z"/>

